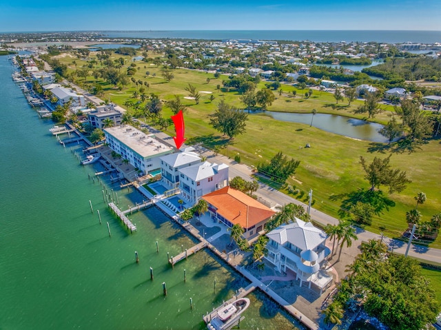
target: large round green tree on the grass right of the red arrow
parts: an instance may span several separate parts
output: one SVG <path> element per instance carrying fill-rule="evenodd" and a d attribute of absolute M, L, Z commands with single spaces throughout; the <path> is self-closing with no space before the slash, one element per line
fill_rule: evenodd
<path fill-rule="evenodd" d="M 210 114 L 209 117 L 209 122 L 214 129 L 229 136 L 229 138 L 245 133 L 248 114 L 225 103 L 224 100 L 218 103 L 214 114 Z"/>

